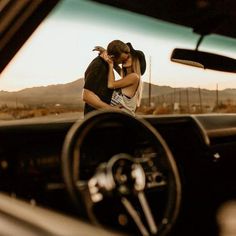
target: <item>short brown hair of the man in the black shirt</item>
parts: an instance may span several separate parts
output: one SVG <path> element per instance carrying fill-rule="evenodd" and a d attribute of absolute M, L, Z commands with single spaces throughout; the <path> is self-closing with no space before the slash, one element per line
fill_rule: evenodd
<path fill-rule="evenodd" d="M 129 53 L 128 45 L 120 40 L 113 40 L 107 46 L 107 53 L 110 56 L 118 58 L 122 53 Z"/>

